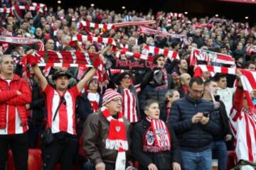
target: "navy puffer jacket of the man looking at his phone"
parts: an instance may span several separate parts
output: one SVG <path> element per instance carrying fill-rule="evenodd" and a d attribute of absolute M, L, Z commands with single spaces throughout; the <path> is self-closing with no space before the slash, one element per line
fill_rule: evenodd
<path fill-rule="evenodd" d="M 220 133 L 220 126 L 215 123 L 213 103 L 200 99 L 194 100 L 186 95 L 174 101 L 171 106 L 171 126 L 176 132 L 181 149 L 191 152 L 201 152 L 210 148 L 213 135 Z M 210 120 L 206 125 L 192 123 L 193 115 L 196 113 L 210 113 Z"/>

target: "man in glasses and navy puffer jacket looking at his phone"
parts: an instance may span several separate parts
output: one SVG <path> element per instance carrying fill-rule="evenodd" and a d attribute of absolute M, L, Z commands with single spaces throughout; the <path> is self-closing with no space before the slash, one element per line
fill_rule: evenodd
<path fill-rule="evenodd" d="M 213 103 L 203 96 L 203 79 L 193 77 L 189 82 L 189 94 L 174 101 L 171 106 L 171 126 L 181 146 L 183 170 L 210 170 L 213 135 L 220 126 L 213 120 Z"/>

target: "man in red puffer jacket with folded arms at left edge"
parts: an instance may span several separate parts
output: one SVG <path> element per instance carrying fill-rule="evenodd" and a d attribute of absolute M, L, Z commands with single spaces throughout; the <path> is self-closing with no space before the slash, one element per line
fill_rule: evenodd
<path fill-rule="evenodd" d="M 28 119 L 26 104 L 31 89 L 14 74 L 11 55 L 0 57 L 0 170 L 5 169 L 9 148 L 17 170 L 28 169 Z"/>

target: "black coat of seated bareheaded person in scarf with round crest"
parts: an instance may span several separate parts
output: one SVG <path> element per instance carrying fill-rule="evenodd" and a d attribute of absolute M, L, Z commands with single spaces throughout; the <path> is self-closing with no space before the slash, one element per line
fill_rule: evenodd
<path fill-rule="evenodd" d="M 132 154 L 139 162 L 139 169 L 148 169 L 149 164 L 153 163 L 159 170 L 171 170 L 171 164 L 178 162 L 181 164 L 181 150 L 178 146 L 176 135 L 168 125 L 169 134 L 171 136 L 171 151 L 164 152 L 144 152 L 143 138 L 146 130 L 148 130 L 150 123 L 147 120 L 142 120 L 134 127 L 134 134 L 132 137 Z"/>

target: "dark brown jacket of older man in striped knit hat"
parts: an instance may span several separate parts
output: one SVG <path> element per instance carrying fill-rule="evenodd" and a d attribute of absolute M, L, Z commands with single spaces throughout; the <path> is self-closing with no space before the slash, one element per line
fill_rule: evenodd
<path fill-rule="evenodd" d="M 127 140 L 129 140 L 129 125 L 124 118 L 127 130 Z M 92 164 L 96 165 L 100 162 L 115 163 L 117 158 L 117 150 L 106 149 L 105 142 L 109 132 L 110 123 L 102 115 L 101 111 L 92 113 L 87 117 L 83 130 L 83 149 Z"/>

